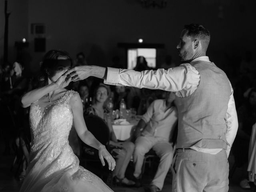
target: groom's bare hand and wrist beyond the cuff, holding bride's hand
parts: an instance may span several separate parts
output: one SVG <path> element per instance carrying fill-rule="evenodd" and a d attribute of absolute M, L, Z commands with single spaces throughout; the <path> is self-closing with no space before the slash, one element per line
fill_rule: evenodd
<path fill-rule="evenodd" d="M 70 75 L 72 81 L 84 80 L 90 76 L 103 78 L 106 68 L 99 66 L 77 66 L 68 71 L 64 75 Z"/>

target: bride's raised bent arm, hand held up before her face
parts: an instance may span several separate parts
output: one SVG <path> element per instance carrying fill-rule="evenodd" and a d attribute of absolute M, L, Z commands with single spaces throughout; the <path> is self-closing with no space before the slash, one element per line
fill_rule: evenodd
<path fill-rule="evenodd" d="M 40 99 L 42 96 L 68 86 L 68 84 L 71 82 L 72 77 L 67 77 L 66 75 L 60 76 L 56 82 L 52 82 L 51 84 L 48 84 L 44 87 L 34 89 L 30 92 L 27 92 L 24 94 L 21 98 L 21 104 L 22 107 L 26 108 L 30 106 L 32 103 L 36 102 L 38 99 Z"/>

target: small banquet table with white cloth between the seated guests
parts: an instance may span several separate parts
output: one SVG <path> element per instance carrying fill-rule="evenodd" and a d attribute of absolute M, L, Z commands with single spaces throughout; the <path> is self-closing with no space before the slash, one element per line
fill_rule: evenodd
<path fill-rule="evenodd" d="M 121 124 L 112 124 L 114 133 L 118 140 L 124 141 L 131 136 L 131 131 L 134 126 L 138 124 L 138 119 L 129 121 L 130 124 L 121 125 Z"/>

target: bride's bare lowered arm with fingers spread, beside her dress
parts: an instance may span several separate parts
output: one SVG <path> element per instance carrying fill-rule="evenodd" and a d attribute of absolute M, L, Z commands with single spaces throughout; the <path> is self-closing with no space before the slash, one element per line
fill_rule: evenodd
<path fill-rule="evenodd" d="M 102 165 L 105 166 L 104 159 L 106 159 L 109 170 L 114 170 L 114 167 L 116 166 L 114 158 L 110 155 L 108 150 L 106 150 L 106 147 L 101 144 L 86 127 L 82 101 L 78 93 L 75 93 L 70 99 L 70 106 L 72 107 L 74 127 L 80 139 L 89 146 L 98 149 Z"/>

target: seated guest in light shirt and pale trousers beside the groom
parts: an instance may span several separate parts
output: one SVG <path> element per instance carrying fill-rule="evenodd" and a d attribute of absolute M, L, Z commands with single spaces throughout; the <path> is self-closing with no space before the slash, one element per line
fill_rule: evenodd
<path fill-rule="evenodd" d="M 142 116 L 135 130 L 134 176 L 139 179 L 144 155 L 152 148 L 160 157 L 160 164 L 151 182 L 150 191 L 160 191 L 170 169 L 174 146 L 169 142 L 178 119 L 174 106 L 175 93 L 168 92 L 166 99 L 154 100 Z"/>

